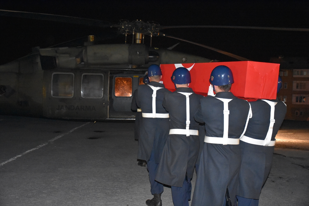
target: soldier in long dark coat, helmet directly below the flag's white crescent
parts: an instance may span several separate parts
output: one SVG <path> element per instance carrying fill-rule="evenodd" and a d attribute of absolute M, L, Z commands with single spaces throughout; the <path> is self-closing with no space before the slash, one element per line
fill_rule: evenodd
<path fill-rule="evenodd" d="M 200 147 L 199 123 L 193 115 L 202 95 L 197 95 L 188 84 L 188 69 L 177 68 L 171 77 L 176 91 L 165 93 L 163 107 L 169 112 L 170 131 L 160 159 L 155 180 L 171 186 L 174 205 L 189 205 L 191 179 Z"/>

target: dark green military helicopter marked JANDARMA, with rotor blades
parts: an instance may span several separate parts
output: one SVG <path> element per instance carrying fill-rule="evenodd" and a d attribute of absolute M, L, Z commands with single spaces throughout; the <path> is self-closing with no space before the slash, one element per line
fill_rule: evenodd
<path fill-rule="evenodd" d="M 239 28 L 309 31 L 304 28 L 161 26 L 156 22 L 120 20 L 109 23 L 70 16 L 0 10 L 0 15 L 70 22 L 97 27 L 115 27 L 125 36 L 124 44 L 96 44 L 88 36 L 74 47 L 32 48 L 32 53 L 0 65 L 0 113 L 56 119 L 133 120 L 132 95 L 151 64 L 211 62 L 208 58 L 152 45 L 152 38 L 165 36 L 233 57 L 249 59 L 161 32 L 167 28 Z M 132 36 L 129 44 L 128 36 Z M 150 45 L 144 44 L 150 36 Z"/>

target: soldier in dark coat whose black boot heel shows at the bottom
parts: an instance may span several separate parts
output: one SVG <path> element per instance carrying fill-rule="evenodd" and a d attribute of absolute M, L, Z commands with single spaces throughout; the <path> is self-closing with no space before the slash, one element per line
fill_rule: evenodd
<path fill-rule="evenodd" d="M 164 92 L 160 83 L 162 72 L 158 65 L 150 65 L 147 75 L 150 83 L 138 86 L 137 106 L 142 109 L 142 125 L 138 140 L 138 159 L 147 161 L 151 194 L 154 198 L 146 200 L 147 205 L 162 205 L 163 185 L 155 181 L 158 163 L 169 131 L 169 115 L 162 106 Z"/>

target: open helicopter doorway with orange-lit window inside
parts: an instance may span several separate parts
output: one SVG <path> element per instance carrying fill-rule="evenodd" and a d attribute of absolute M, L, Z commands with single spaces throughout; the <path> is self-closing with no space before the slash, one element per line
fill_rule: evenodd
<path fill-rule="evenodd" d="M 110 91 L 109 119 L 132 120 L 136 112 L 131 111 L 131 102 L 138 85 L 143 84 L 143 74 L 114 74 Z"/>

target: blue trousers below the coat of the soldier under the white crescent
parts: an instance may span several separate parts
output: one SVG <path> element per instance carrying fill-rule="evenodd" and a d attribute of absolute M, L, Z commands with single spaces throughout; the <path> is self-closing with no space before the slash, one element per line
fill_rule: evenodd
<path fill-rule="evenodd" d="M 176 206 L 189 206 L 191 200 L 191 178 L 184 179 L 182 187 L 171 186 L 173 203 Z"/>

